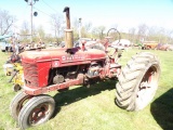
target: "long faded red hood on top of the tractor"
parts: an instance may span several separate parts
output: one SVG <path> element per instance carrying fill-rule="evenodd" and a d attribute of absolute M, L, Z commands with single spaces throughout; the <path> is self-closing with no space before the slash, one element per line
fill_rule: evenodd
<path fill-rule="evenodd" d="M 59 61 L 61 63 L 79 62 L 79 61 L 93 61 L 106 58 L 106 53 L 102 50 L 90 49 L 82 51 L 74 48 L 72 53 L 67 53 L 67 49 L 51 49 L 41 51 L 25 51 L 21 54 L 22 62 L 36 63 L 36 62 L 49 62 Z"/>

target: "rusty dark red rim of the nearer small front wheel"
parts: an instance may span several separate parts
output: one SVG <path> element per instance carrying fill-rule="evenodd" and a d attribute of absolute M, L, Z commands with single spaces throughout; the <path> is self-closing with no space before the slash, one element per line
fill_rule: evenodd
<path fill-rule="evenodd" d="M 51 107 L 50 103 L 42 103 L 37 107 L 35 107 L 29 115 L 30 126 L 37 126 L 43 122 L 50 114 L 50 110 L 51 110 L 50 107 Z"/>

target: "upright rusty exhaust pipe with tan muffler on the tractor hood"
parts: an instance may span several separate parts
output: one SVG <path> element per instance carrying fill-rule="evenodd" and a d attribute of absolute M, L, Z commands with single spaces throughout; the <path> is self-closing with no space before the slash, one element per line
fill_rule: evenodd
<path fill-rule="evenodd" d="M 66 6 L 63 12 L 66 12 L 65 47 L 71 49 L 74 48 L 74 31 L 70 29 L 69 8 Z"/>

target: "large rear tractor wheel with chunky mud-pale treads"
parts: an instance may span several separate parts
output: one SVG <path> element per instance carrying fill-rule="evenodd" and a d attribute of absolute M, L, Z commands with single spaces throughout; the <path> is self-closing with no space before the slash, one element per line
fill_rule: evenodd
<path fill-rule="evenodd" d="M 116 103 L 127 110 L 139 110 L 154 99 L 160 77 L 157 56 L 142 52 L 132 57 L 119 76 Z"/>

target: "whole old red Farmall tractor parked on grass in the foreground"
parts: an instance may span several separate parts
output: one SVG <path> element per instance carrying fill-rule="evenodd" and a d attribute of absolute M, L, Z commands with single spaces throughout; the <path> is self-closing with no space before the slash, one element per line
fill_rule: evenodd
<path fill-rule="evenodd" d="M 65 8 L 67 29 L 66 48 L 25 51 L 22 53 L 25 84 L 10 104 L 11 115 L 21 129 L 34 127 L 49 120 L 55 109 L 55 101 L 45 94 L 50 91 L 65 91 L 69 87 L 89 86 L 94 80 L 118 78 L 116 104 L 127 110 L 143 109 L 152 100 L 160 76 L 158 58 L 147 52 L 132 57 L 121 70 L 118 56 L 107 50 L 86 49 L 85 42 L 74 48 L 70 29 L 69 8 Z M 118 52 L 114 49 L 114 55 Z"/>

